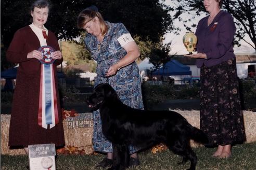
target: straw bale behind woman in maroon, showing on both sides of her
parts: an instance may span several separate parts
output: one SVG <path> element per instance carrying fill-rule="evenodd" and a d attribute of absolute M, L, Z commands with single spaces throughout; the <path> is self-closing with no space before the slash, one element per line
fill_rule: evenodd
<path fill-rule="evenodd" d="M 66 146 L 83 149 L 85 154 L 92 154 L 92 113 L 79 114 L 78 117 L 63 120 Z M 25 154 L 24 149 L 9 149 L 10 115 L 1 115 L 1 149 L 2 154 Z"/>

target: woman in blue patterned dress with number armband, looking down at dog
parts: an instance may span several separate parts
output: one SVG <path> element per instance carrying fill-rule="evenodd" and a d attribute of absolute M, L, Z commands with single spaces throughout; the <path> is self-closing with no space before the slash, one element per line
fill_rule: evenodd
<path fill-rule="evenodd" d="M 80 12 L 78 27 L 87 32 L 85 47 L 97 62 L 95 86 L 109 83 L 124 104 L 144 109 L 139 72 L 135 63 L 140 53 L 125 26 L 122 23 L 104 21 L 97 7 L 91 6 Z M 102 133 L 99 111 L 94 111 L 93 145 L 95 151 L 107 153 L 107 157 L 96 167 L 111 166 L 112 144 Z M 137 149 L 130 146 L 129 150 L 130 165 L 138 165 Z"/>

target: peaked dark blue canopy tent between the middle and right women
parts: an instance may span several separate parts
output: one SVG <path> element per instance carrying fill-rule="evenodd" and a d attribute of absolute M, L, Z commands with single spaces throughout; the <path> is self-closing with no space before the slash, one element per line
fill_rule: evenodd
<path fill-rule="evenodd" d="M 164 68 L 164 70 L 163 70 Z M 161 68 L 155 70 L 152 75 L 160 76 L 176 76 L 176 75 L 191 75 L 190 67 L 181 64 L 177 60 L 171 60 Z"/>

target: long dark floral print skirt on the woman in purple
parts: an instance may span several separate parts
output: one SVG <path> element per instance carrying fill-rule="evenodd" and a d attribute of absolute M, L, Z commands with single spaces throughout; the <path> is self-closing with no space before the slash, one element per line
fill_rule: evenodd
<path fill-rule="evenodd" d="M 208 136 L 206 146 L 246 140 L 235 58 L 201 67 L 200 129 Z"/>

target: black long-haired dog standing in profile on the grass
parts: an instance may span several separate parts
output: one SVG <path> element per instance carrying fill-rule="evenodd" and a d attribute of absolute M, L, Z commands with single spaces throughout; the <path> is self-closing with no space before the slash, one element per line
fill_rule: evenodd
<path fill-rule="evenodd" d="M 86 102 L 94 110 L 99 109 L 103 134 L 112 142 L 113 165 L 109 169 L 129 166 L 129 145 L 146 148 L 159 143 L 181 155 L 181 163 L 189 160 L 189 169 L 196 169 L 197 157 L 189 140 L 204 144 L 208 143 L 208 139 L 177 112 L 139 110 L 126 106 L 107 83 L 99 84 Z"/>

